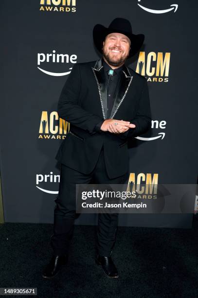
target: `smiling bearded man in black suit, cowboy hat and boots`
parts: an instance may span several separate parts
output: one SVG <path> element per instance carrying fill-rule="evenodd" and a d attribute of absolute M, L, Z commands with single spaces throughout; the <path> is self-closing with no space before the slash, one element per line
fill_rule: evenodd
<path fill-rule="evenodd" d="M 128 178 L 127 139 L 139 136 L 151 124 L 146 79 L 126 67 L 144 35 L 134 35 L 130 22 L 114 19 L 108 28 L 97 24 L 93 40 L 103 58 L 77 63 L 58 102 L 59 117 L 70 131 L 56 159 L 61 163 L 59 193 L 54 209 L 54 255 L 43 272 L 54 277 L 68 261 L 75 219 L 75 184 L 122 184 Z M 111 259 L 118 214 L 98 214 L 95 261 L 108 278 L 117 278 Z"/>

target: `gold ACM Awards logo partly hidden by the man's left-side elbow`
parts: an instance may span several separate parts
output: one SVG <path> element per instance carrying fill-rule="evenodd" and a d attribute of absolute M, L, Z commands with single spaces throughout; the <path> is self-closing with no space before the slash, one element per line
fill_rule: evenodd
<path fill-rule="evenodd" d="M 64 140 L 70 130 L 70 123 L 58 117 L 57 112 L 42 111 L 38 139 Z"/>

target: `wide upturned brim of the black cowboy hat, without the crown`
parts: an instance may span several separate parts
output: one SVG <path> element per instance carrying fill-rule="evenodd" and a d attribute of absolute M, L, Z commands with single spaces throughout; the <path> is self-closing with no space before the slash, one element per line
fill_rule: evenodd
<path fill-rule="evenodd" d="M 102 53 L 102 47 L 103 47 L 103 41 L 105 40 L 105 37 L 110 34 L 110 33 L 122 33 L 126 35 L 130 41 L 131 41 L 131 46 L 130 46 L 130 51 L 129 51 L 129 56 L 128 58 L 134 56 L 141 48 L 141 46 L 144 43 L 144 34 L 133 34 L 129 33 L 123 30 L 118 30 L 118 29 L 112 29 L 112 28 L 106 28 L 105 26 L 101 24 L 97 24 L 93 28 L 93 41 L 94 44 L 97 48 L 97 50 Z"/>

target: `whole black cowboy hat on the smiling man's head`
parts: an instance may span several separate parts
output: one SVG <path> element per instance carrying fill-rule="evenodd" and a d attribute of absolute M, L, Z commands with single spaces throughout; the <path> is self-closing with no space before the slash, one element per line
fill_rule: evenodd
<path fill-rule="evenodd" d="M 97 24 L 93 28 L 93 41 L 97 50 L 102 53 L 103 41 L 105 37 L 110 33 L 122 33 L 126 35 L 131 41 L 131 48 L 129 51 L 129 56 L 134 56 L 141 48 L 144 42 L 144 35 L 135 35 L 132 33 L 131 24 L 127 19 L 116 18 L 112 20 L 108 28 L 103 25 Z"/>

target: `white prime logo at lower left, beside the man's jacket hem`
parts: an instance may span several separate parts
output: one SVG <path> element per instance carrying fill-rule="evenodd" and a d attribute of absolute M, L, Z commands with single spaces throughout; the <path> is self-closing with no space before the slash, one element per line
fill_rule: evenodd
<path fill-rule="evenodd" d="M 39 183 L 42 184 L 42 187 L 39 187 Z M 56 184 L 58 188 L 58 184 L 60 183 L 60 175 L 54 175 L 53 172 L 50 174 L 36 174 L 36 187 L 46 193 L 57 194 L 57 190 L 50 190 L 52 188 L 51 184 Z M 44 186 L 45 184 L 45 186 Z M 50 188 L 50 189 L 49 189 Z"/>

